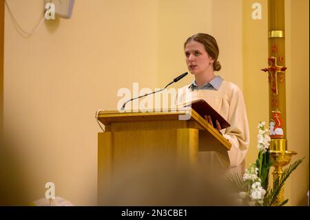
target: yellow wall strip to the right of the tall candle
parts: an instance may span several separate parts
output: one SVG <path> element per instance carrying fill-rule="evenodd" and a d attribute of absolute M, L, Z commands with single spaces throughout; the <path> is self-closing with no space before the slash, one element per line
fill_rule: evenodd
<path fill-rule="evenodd" d="M 308 206 L 309 190 L 309 1 L 286 0 L 287 148 L 304 158 L 285 189 L 291 206 Z"/>

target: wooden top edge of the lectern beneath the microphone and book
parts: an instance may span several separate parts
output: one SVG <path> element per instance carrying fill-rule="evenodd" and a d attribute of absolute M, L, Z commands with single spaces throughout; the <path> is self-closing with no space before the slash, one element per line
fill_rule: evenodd
<path fill-rule="evenodd" d="M 223 137 L 218 130 L 213 128 L 203 117 L 193 110 L 192 108 L 181 108 L 177 110 L 113 110 L 113 111 L 100 111 L 98 113 L 98 120 L 105 126 L 110 126 L 111 123 L 124 123 L 124 122 L 142 122 L 142 121 L 180 121 L 179 116 L 187 116 L 187 124 L 190 124 L 192 128 L 198 128 L 200 130 L 206 130 L 220 143 L 230 150 L 231 143 Z M 194 125 L 194 126 L 193 126 Z"/>

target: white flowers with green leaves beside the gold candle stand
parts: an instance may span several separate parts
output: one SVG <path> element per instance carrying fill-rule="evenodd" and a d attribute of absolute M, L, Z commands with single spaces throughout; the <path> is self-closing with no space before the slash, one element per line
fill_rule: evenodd
<path fill-rule="evenodd" d="M 285 181 L 303 159 L 299 159 L 286 168 L 281 177 L 273 181 L 273 187 L 269 188 L 269 170 L 272 161 L 269 157 L 270 137 L 265 129 L 265 121 L 258 124 L 258 159 L 251 163 L 244 174 L 231 174 L 229 181 L 238 189 L 238 204 L 242 206 L 283 206 L 289 199 L 278 203 L 281 188 Z"/>

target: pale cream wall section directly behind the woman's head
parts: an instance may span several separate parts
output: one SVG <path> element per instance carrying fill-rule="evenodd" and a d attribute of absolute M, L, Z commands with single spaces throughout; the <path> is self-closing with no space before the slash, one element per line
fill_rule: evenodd
<path fill-rule="evenodd" d="M 216 72 L 243 89 L 242 81 L 242 1 L 234 0 L 160 0 L 159 1 L 159 85 L 165 86 L 176 75 L 188 72 L 183 44 L 198 32 L 213 35 L 218 42 L 218 60 L 222 70 Z M 180 88 L 194 77 L 172 86 Z"/>

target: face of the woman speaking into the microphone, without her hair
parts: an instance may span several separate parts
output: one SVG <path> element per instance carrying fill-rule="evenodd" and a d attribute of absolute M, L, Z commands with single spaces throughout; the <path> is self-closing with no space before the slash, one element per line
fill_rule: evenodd
<path fill-rule="evenodd" d="M 207 74 L 213 70 L 214 59 L 212 59 L 203 43 L 190 41 L 185 46 L 186 63 L 192 74 Z"/>

